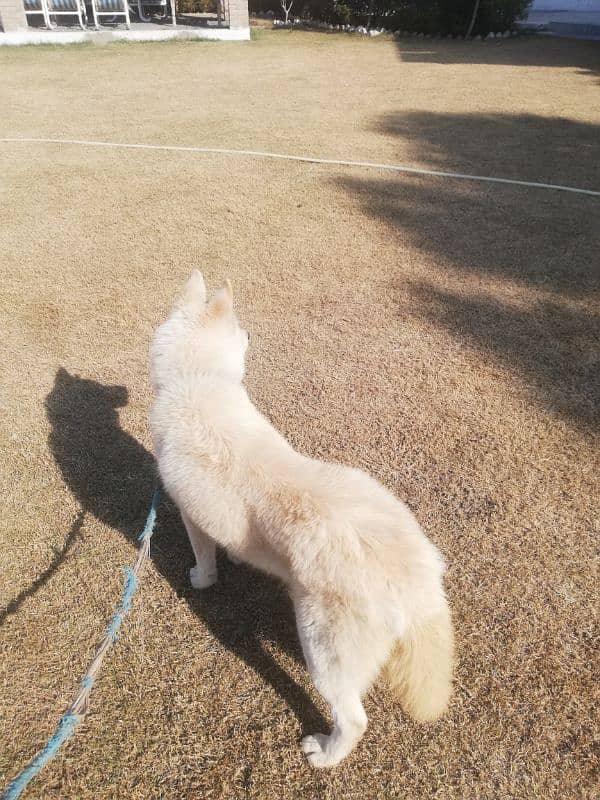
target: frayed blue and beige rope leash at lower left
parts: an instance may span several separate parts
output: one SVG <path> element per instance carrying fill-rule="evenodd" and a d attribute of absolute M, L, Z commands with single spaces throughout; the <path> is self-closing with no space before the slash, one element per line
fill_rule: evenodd
<path fill-rule="evenodd" d="M 105 653 L 117 640 L 117 633 L 121 627 L 127 612 L 131 608 L 131 601 L 135 590 L 138 585 L 138 573 L 142 566 L 144 559 L 150 553 L 150 537 L 154 533 L 154 525 L 156 523 L 156 509 L 160 501 L 160 492 L 158 489 L 154 490 L 152 497 L 152 505 L 146 518 L 144 530 L 139 535 L 140 548 L 138 557 L 133 567 L 124 567 L 125 585 L 123 587 L 123 594 L 121 595 L 121 602 L 119 603 L 115 615 L 111 619 L 108 627 L 106 628 L 104 637 L 96 650 L 96 654 L 90 664 L 88 671 L 81 681 L 81 688 L 77 697 L 62 719 L 58 723 L 56 731 L 48 739 L 46 746 L 37 754 L 37 756 L 29 763 L 24 770 L 10 783 L 2 795 L 0 800 L 17 800 L 21 796 L 21 792 L 26 788 L 27 784 L 39 775 L 46 764 L 51 761 L 58 753 L 63 744 L 71 738 L 75 732 L 77 725 L 85 719 L 89 707 L 89 696 L 96 680 L 96 674 L 99 672 L 102 665 L 102 660 Z"/>

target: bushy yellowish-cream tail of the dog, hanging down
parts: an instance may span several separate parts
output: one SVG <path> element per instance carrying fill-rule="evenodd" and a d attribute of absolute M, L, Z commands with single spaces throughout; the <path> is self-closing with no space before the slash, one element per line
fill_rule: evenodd
<path fill-rule="evenodd" d="M 386 665 L 386 677 L 402 708 L 419 722 L 431 722 L 448 706 L 452 692 L 454 637 L 450 610 L 411 624 Z"/>

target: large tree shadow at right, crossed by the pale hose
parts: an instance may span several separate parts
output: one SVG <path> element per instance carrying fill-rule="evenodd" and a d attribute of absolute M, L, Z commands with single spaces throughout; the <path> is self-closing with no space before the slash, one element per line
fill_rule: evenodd
<path fill-rule="evenodd" d="M 600 126 L 413 113 L 377 127 L 427 168 L 600 188 Z M 598 426 L 599 198 L 406 175 L 336 182 L 431 265 L 390 278 L 411 313 L 503 361 L 577 427 Z"/>

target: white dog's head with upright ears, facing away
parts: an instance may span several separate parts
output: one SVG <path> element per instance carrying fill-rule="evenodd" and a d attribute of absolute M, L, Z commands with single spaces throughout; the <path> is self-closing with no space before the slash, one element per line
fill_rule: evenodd
<path fill-rule="evenodd" d="M 229 281 L 210 300 L 199 270 L 194 270 L 150 349 L 152 383 L 167 385 L 182 372 L 208 372 L 241 381 L 248 333 L 233 311 Z"/>

